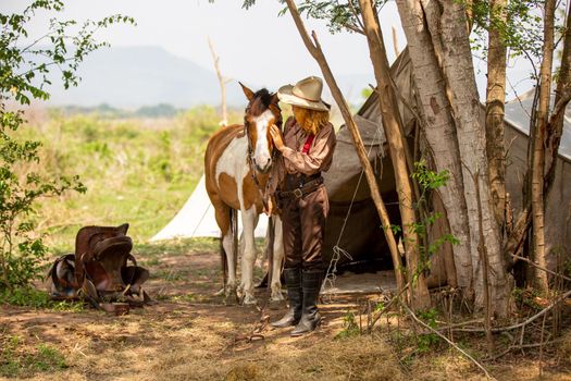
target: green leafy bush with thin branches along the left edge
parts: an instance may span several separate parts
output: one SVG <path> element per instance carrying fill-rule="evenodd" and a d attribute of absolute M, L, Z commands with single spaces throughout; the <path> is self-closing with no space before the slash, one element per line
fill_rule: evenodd
<path fill-rule="evenodd" d="M 61 0 L 36 0 L 22 13 L 0 14 L 0 291 L 26 286 L 39 275 L 46 246 L 34 222 L 37 200 L 70 189 L 85 192 L 77 176 L 47 177 L 33 170 L 38 167 L 41 144 L 16 134 L 24 113 L 7 105 L 25 106 L 30 99 L 48 99 L 50 67 L 59 69 L 65 88 L 77 85 L 79 63 L 89 52 L 105 46 L 95 40 L 94 33 L 113 23 L 133 23 L 129 17 L 114 15 L 88 21 L 72 35 L 75 21 L 52 19 L 44 37 L 32 38 L 35 41 L 23 47 L 22 40 L 32 37 L 28 28 L 36 12 L 62 10 Z M 47 41 L 51 45 L 40 48 Z"/>

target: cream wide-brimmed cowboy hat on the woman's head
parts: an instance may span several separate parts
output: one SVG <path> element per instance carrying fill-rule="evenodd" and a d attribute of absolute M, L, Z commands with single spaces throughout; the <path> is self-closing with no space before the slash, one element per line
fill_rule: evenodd
<path fill-rule="evenodd" d="M 277 97 L 287 105 L 305 107 L 306 109 L 328 111 L 331 106 L 321 99 L 323 81 L 316 76 L 308 76 L 295 86 L 285 85 L 277 90 Z"/>

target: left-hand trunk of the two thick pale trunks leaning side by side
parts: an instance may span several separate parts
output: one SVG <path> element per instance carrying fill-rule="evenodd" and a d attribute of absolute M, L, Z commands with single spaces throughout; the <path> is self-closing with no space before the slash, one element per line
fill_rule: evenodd
<path fill-rule="evenodd" d="M 460 242 L 454 247 L 458 286 L 471 299 L 473 284 L 468 210 L 463 196 L 460 152 L 454 120 L 448 111 L 444 78 L 420 1 L 397 0 L 397 5 L 407 36 L 414 88 L 421 106 L 421 128 L 436 171 L 447 170 L 450 174 L 450 179 L 437 192 L 445 207 L 451 234 Z"/>

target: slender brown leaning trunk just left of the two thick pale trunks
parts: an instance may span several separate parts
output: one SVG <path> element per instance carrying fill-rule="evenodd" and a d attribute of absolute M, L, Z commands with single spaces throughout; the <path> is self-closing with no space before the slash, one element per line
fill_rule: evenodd
<path fill-rule="evenodd" d="M 371 0 L 359 0 L 369 42 L 369 52 L 373 63 L 378 90 L 378 101 L 385 136 L 388 142 L 390 160 L 395 171 L 395 181 L 399 200 L 402 232 L 405 235 L 405 255 L 407 258 L 407 280 L 411 284 L 410 305 L 422 310 L 431 305 L 431 297 L 423 274 L 425 265 L 419 263 L 419 237 L 414 232 L 417 218 L 413 209 L 412 186 L 405 153 L 402 122 L 392 86 L 388 59 L 378 22 L 373 12 Z"/>

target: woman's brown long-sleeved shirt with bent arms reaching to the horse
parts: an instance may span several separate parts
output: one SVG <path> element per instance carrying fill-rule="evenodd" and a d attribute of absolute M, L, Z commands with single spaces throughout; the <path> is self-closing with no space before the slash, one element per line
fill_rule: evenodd
<path fill-rule="evenodd" d="M 284 125 L 284 149 L 282 155 L 276 157 L 272 165 L 270 177 L 266 184 L 265 195 L 271 196 L 284 181 L 286 174 L 302 173 L 312 175 L 318 172 L 326 172 L 333 160 L 333 151 L 337 140 L 333 124 L 327 123 L 322 126 L 309 151 L 302 152 L 303 145 L 308 140 L 308 134 L 290 116 Z"/>

